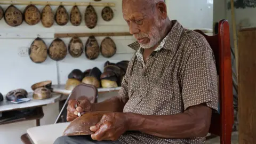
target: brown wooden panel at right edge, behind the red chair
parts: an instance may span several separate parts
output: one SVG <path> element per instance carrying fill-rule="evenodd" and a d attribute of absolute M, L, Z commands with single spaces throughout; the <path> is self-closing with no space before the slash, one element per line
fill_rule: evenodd
<path fill-rule="evenodd" d="M 256 143 L 256 28 L 238 32 L 239 144 Z"/>

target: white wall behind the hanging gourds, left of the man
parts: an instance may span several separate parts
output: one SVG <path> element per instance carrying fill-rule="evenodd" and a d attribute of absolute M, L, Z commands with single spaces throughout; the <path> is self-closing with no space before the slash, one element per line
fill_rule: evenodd
<path fill-rule="evenodd" d="M 42 0 L 41 0 L 42 1 Z M 46 0 L 45 0 L 46 1 Z M 60 1 L 60 0 L 55 0 Z M 61 2 L 63 2 L 62 0 Z M 65 0 L 68 1 L 68 0 Z M 80 0 L 81 2 L 94 2 L 93 0 Z M 76 2 L 79 2 L 76 0 Z M 81 26 L 71 26 L 69 22 L 66 26 L 58 26 L 54 23 L 51 28 L 44 28 L 42 23 L 35 26 L 28 26 L 23 22 L 21 26 L 13 28 L 8 26 L 4 19 L 0 21 L 0 92 L 6 94 L 7 92 L 23 88 L 31 91 L 30 86 L 36 82 L 50 79 L 53 84 L 65 84 L 68 73 L 73 69 L 81 69 L 82 71 L 97 66 L 103 69 L 103 63 L 107 60 L 110 62 L 117 62 L 121 60 L 130 60 L 133 54 L 127 44 L 134 42 L 132 36 L 115 36 L 113 38 L 117 46 L 117 53 L 110 59 L 103 58 L 101 55 L 96 60 L 87 60 L 83 54 L 79 58 L 72 58 L 69 54 L 62 61 L 56 62 L 47 57 L 46 61 L 41 64 L 33 63 L 27 54 L 27 49 L 34 39 L 39 35 L 43 38 L 45 43 L 49 46 L 54 39 L 54 33 L 105 33 L 105 32 L 129 32 L 126 22 L 122 18 L 122 1 L 121 0 L 104 0 L 102 2 L 114 2 L 114 18 L 110 22 L 103 21 L 101 18 L 101 10 L 103 7 L 94 7 L 98 14 L 98 24 L 94 29 L 89 29 L 82 21 Z M 1 5 L 5 10 L 9 5 Z M 26 5 L 15 5 L 22 12 Z M 42 11 L 43 6 L 37 6 Z M 52 6 L 53 11 L 58 6 Z M 65 6 L 70 12 L 72 6 Z M 84 15 L 85 6 L 79 6 L 79 9 Z M 104 37 L 96 37 L 100 44 Z M 67 45 L 71 38 L 61 38 Z M 85 44 L 87 37 L 81 38 Z M 25 53 L 22 53 L 25 52 Z M 59 78 L 59 79 L 58 79 Z M 117 93 L 109 93 L 99 95 L 99 101 L 116 95 Z M 41 119 L 41 125 L 52 124 L 58 116 L 58 103 L 43 107 L 45 116 Z M 15 124 L 0 126 L 0 140 L 1 144 L 22 143 L 20 136 L 26 133 L 29 127 L 34 127 L 35 121 L 20 122 Z"/>

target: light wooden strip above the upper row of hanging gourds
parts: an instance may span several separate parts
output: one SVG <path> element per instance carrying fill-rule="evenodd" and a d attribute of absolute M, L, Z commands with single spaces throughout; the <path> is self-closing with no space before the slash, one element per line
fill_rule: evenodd
<path fill-rule="evenodd" d="M 57 1 L 6 1 L 6 0 L 0 0 L 0 4 L 13 4 L 13 5 L 29 5 L 29 4 L 34 4 L 34 5 L 64 5 L 64 6 L 110 6 L 113 7 L 115 6 L 115 3 L 88 3 L 88 2 L 57 2 Z"/>

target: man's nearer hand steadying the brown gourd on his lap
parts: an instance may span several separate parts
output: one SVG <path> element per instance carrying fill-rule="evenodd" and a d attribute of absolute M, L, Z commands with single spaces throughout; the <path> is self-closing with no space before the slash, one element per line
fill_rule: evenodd
<path fill-rule="evenodd" d="M 95 132 L 91 135 L 93 140 L 116 141 L 127 131 L 127 117 L 124 113 L 104 114 L 98 124 L 91 126 L 90 130 Z"/>

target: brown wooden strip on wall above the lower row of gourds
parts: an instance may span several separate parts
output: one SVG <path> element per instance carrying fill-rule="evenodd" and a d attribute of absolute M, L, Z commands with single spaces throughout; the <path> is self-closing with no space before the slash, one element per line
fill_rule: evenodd
<path fill-rule="evenodd" d="M 89 36 L 131 36 L 128 32 L 123 33 L 66 33 L 66 34 L 54 34 L 54 38 L 61 37 L 89 37 Z"/>

